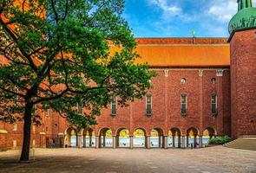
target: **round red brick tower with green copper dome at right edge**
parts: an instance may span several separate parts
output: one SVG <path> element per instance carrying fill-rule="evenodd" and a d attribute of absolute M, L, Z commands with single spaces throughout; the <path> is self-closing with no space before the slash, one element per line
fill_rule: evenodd
<path fill-rule="evenodd" d="M 238 12 L 228 29 L 232 137 L 256 135 L 256 9 L 252 0 L 238 0 Z"/>

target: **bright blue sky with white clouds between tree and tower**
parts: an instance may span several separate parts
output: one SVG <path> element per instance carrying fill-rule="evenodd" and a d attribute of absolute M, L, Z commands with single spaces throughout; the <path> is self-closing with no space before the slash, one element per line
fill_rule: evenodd
<path fill-rule="evenodd" d="M 124 18 L 135 37 L 228 37 L 237 0 L 126 0 Z M 253 0 L 256 7 L 256 0 Z"/>

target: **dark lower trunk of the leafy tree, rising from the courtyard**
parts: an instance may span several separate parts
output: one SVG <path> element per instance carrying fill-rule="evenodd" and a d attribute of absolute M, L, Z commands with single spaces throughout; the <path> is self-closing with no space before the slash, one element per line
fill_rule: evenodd
<path fill-rule="evenodd" d="M 31 113 L 32 105 L 26 103 L 23 125 L 23 150 L 20 161 L 29 161 L 30 159 L 30 131 L 31 131 Z"/>

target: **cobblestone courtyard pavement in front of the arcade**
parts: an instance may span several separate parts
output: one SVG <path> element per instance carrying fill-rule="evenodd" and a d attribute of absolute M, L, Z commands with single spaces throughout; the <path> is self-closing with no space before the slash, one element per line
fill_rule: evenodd
<path fill-rule="evenodd" d="M 194 150 L 36 149 L 36 161 L 15 163 L 19 152 L 0 152 L 1 173 L 256 173 L 256 151 L 223 146 Z"/>

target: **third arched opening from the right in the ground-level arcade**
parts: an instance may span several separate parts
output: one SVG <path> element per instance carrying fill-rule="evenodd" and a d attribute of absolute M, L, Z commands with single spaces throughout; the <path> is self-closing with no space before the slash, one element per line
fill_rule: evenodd
<path fill-rule="evenodd" d="M 167 147 L 181 148 L 181 130 L 179 128 L 172 128 L 168 131 Z"/>

